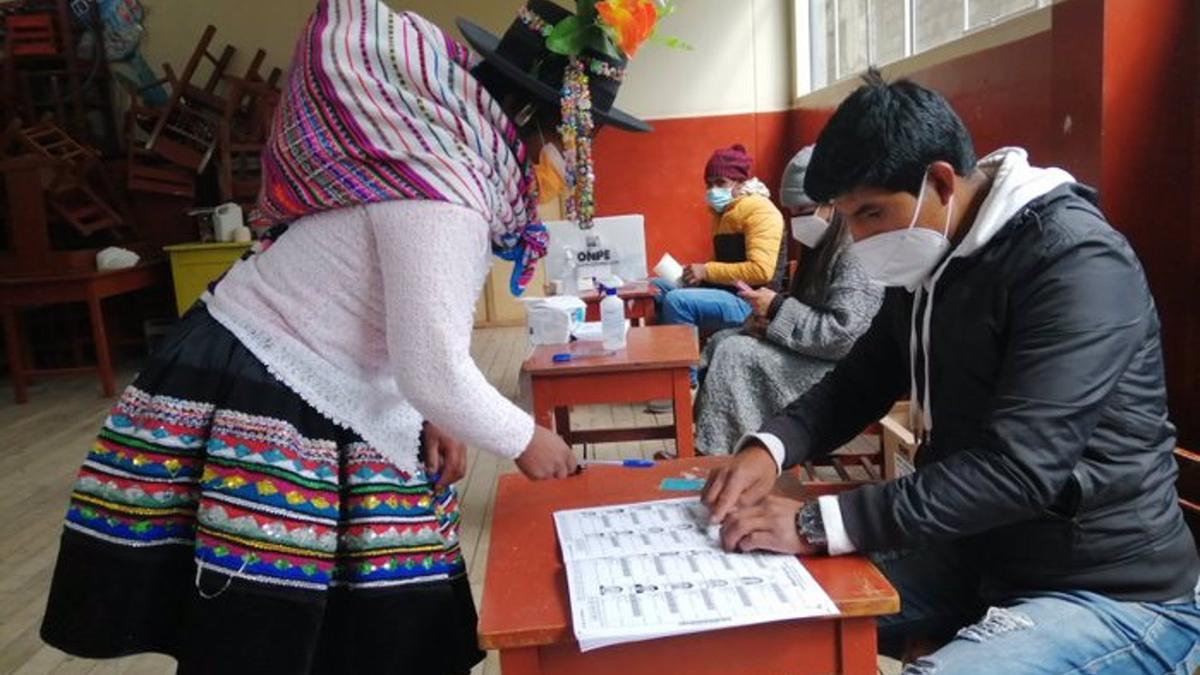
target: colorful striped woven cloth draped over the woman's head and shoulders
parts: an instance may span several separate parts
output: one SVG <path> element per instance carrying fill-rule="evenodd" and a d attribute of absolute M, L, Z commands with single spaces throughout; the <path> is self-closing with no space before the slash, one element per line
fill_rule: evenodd
<path fill-rule="evenodd" d="M 320 0 L 263 150 L 259 215 L 430 199 L 478 211 L 521 294 L 547 234 L 516 126 L 470 74 L 478 58 L 380 0 Z M 437 227 L 437 223 L 431 223 Z"/>

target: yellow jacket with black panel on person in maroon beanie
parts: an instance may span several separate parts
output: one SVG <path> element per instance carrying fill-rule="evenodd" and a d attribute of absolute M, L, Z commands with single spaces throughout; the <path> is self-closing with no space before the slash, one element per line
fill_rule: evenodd
<path fill-rule="evenodd" d="M 782 270 L 784 214 L 760 195 L 739 197 L 716 220 L 713 228 L 715 261 L 707 263 L 709 283 L 732 286 L 745 281 L 767 286 Z"/>

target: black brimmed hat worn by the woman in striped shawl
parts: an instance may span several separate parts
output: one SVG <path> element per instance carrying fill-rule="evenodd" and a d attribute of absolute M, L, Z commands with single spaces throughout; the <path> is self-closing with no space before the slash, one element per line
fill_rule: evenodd
<path fill-rule="evenodd" d="M 568 58 L 546 47 L 551 29 L 572 13 L 550 0 L 529 0 L 504 32 L 496 37 L 479 24 L 458 19 L 458 30 L 484 60 L 502 76 L 535 97 L 548 103 L 562 98 L 563 73 Z M 614 108 L 617 90 L 625 73 L 626 59 L 613 58 L 594 49 L 584 49 L 580 56 L 588 73 L 592 94 L 592 117 L 595 124 L 605 124 L 626 131 L 650 131 L 653 127 Z"/>

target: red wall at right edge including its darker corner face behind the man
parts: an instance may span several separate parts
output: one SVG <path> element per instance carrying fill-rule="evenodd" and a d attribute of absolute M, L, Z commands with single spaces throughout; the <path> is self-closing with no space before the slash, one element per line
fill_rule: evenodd
<path fill-rule="evenodd" d="M 1200 8 L 1072 0 L 1055 6 L 1054 26 L 1054 117 L 1073 120 L 1058 161 L 1099 190 L 1146 268 L 1171 418 L 1180 444 L 1200 447 Z"/>

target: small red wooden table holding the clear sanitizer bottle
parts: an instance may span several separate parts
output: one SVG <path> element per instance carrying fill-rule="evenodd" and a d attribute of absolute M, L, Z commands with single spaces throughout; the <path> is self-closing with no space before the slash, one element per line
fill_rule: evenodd
<path fill-rule="evenodd" d="M 595 341 L 536 347 L 521 370 L 529 376 L 538 424 L 556 430 L 570 444 L 674 438 L 682 458 L 694 456 L 691 380 L 689 369 L 700 362 L 696 329 L 691 325 L 630 328 L 624 350 L 612 356 Z M 554 363 L 554 354 L 572 360 Z M 671 399 L 671 426 L 589 429 L 571 431 L 569 406 Z"/>

